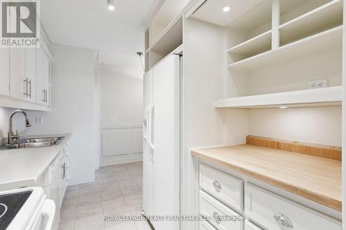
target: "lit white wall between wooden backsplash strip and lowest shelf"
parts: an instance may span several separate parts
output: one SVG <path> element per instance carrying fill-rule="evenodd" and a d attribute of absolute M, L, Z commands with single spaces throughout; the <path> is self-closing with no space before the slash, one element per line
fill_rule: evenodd
<path fill-rule="evenodd" d="M 250 134 L 341 146 L 341 106 L 252 108 Z"/>

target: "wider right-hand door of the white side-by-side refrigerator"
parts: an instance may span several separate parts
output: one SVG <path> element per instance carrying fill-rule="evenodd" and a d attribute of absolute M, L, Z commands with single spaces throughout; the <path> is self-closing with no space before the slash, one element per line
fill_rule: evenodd
<path fill-rule="evenodd" d="M 179 215 L 180 59 L 171 55 L 153 69 L 154 215 Z M 179 229 L 177 221 L 152 222 L 155 229 Z"/>

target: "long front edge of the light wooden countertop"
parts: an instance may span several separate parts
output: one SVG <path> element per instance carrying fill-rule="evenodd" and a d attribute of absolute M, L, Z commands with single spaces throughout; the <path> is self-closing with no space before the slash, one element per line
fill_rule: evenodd
<path fill-rule="evenodd" d="M 219 160 L 216 159 L 215 157 L 209 157 L 207 155 L 204 155 L 203 153 L 198 153 L 196 150 L 192 150 L 191 151 L 192 155 L 194 155 L 195 157 L 199 157 L 203 160 L 207 160 L 209 162 L 215 163 L 215 164 L 219 164 L 221 166 L 226 166 L 230 169 L 233 169 L 239 173 L 242 173 L 244 175 L 248 175 L 251 178 L 255 178 L 257 180 L 261 180 L 262 182 L 266 182 L 267 184 L 271 184 L 273 186 L 277 186 L 280 189 L 284 189 L 286 191 L 289 191 L 291 193 L 294 193 L 296 195 L 300 195 L 303 198 L 307 198 L 309 200 L 313 200 L 314 202 L 317 202 L 318 204 L 322 204 L 325 205 L 331 209 L 336 209 L 338 211 L 341 211 L 341 207 L 342 207 L 342 202 L 340 200 L 335 200 L 333 198 L 329 198 L 325 195 L 321 195 L 318 193 L 314 193 L 312 191 L 309 191 L 307 189 L 304 188 L 299 188 L 297 186 L 292 186 L 289 183 L 286 182 L 282 182 L 280 180 L 275 180 L 274 178 L 271 178 L 270 176 L 267 175 L 263 175 L 260 173 L 255 173 L 251 170 L 248 169 L 244 169 L 242 167 L 236 166 L 234 164 L 231 164 L 230 162 L 226 162 L 224 160 Z"/>

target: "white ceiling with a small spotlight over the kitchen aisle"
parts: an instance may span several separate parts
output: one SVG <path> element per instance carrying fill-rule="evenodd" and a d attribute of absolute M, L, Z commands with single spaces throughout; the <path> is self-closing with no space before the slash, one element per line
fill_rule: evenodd
<path fill-rule="evenodd" d="M 44 0 L 42 21 L 53 43 L 99 50 L 101 64 L 143 73 L 136 52 L 144 52 L 140 23 L 154 0 Z M 143 60 L 144 61 L 144 60 Z"/>

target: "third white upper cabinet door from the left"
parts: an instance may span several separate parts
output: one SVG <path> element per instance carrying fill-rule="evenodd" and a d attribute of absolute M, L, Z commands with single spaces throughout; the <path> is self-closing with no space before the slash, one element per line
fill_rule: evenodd
<path fill-rule="evenodd" d="M 25 81 L 28 84 L 28 94 L 26 100 L 36 102 L 36 49 L 26 48 L 25 50 Z"/>

